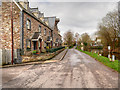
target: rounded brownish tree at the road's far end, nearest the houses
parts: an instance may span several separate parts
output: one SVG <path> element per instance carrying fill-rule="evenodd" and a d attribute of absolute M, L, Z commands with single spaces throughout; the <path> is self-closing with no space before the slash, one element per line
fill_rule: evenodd
<path fill-rule="evenodd" d="M 64 33 L 64 42 L 67 43 L 67 45 L 70 47 L 73 45 L 74 42 L 74 34 L 70 30 L 68 30 L 66 33 Z"/>

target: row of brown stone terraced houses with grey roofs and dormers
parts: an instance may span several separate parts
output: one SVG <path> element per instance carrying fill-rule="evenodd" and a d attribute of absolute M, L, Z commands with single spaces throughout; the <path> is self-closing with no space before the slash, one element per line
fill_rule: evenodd
<path fill-rule="evenodd" d="M 11 2 L 2 2 L 1 9 L 0 59 L 8 63 L 11 62 Z M 54 38 L 61 41 L 58 22 L 56 17 L 44 17 L 38 8 L 30 8 L 28 1 L 13 1 L 14 59 L 21 61 L 21 54 L 29 55 L 33 50 L 40 53 L 46 46 L 58 47 L 54 46 Z"/>

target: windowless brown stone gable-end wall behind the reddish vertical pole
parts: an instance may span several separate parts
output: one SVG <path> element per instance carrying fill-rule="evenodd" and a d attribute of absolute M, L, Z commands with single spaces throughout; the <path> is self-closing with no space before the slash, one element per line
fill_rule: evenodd
<path fill-rule="evenodd" d="M 3 49 L 11 48 L 11 3 L 2 2 L 1 44 Z M 13 3 L 14 49 L 20 48 L 20 10 Z"/>

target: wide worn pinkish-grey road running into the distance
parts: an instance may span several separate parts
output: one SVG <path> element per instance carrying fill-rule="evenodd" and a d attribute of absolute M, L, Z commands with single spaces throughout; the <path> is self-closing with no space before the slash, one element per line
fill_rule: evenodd
<path fill-rule="evenodd" d="M 3 88 L 117 87 L 117 72 L 75 49 L 60 62 L 3 69 Z"/>

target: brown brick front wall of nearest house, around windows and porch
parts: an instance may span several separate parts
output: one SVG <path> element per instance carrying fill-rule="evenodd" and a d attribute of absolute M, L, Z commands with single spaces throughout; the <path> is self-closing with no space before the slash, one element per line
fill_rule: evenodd
<path fill-rule="evenodd" d="M 31 21 L 31 30 L 26 28 L 26 21 L 30 19 Z M 24 50 L 26 51 L 26 39 L 31 39 L 35 32 L 39 32 L 39 25 L 41 26 L 41 36 L 42 36 L 42 49 L 44 49 L 44 41 L 47 41 L 47 36 L 49 36 L 49 31 L 51 31 L 48 27 L 41 24 L 39 21 L 34 19 L 32 16 L 24 13 Z M 44 35 L 44 29 L 46 29 L 46 35 Z M 33 42 L 31 41 L 31 49 L 33 50 Z"/>

